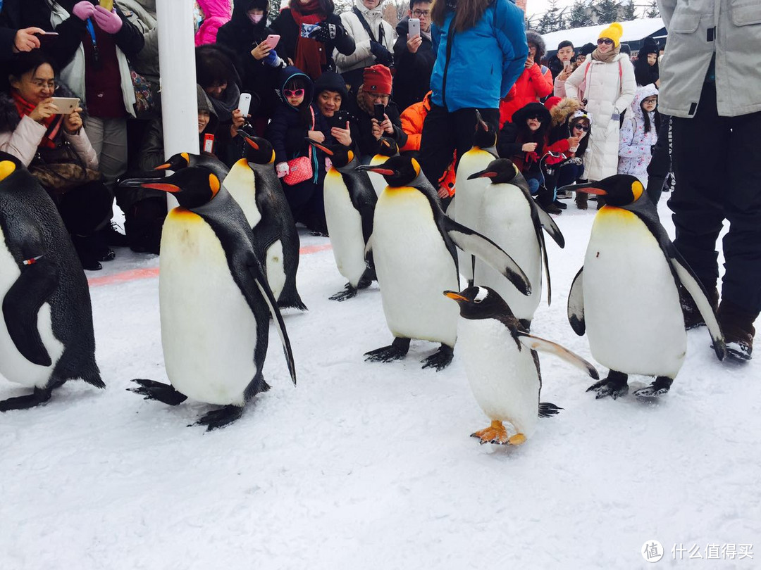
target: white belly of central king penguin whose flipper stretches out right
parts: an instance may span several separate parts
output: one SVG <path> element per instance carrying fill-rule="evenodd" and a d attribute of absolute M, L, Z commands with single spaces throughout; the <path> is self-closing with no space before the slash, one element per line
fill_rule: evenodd
<path fill-rule="evenodd" d="M 459 290 L 457 271 L 431 204 L 416 188 L 387 188 L 380 195 L 373 256 L 393 335 L 454 347 L 459 309 L 443 293 Z"/>

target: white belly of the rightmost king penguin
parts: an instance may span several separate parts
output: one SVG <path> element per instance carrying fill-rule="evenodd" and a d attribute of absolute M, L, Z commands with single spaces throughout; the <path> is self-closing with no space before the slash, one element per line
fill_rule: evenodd
<path fill-rule="evenodd" d="M 636 214 L 606 206 L 584 258 L 584 319 L 592 356 L 628 374 L 674 378 L 686 333 L 668 261 Z"/>

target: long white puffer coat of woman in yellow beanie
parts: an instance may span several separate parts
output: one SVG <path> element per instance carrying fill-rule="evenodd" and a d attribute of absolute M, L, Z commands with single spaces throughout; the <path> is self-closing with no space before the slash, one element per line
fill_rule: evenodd
<path fill-rule="evenodd" d="M 594 129 L 584 153 L 584 176 L 601 180 L 618 169 L 619 116 L 634 99 L 637 81 L 629 56 L 619 53 L 610 62 L 588 57 L 565 81 L 565 94 L 587 100 Z"/>

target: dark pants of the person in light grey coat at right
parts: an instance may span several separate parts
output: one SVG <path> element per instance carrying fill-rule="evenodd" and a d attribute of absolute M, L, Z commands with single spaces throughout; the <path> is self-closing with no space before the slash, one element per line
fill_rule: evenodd
<path fill-rule="evenodd" d="M 668 205 L 674 244 L 712 290 L 718 280 L 716 240 L 724 219 L 723 299 L 761 309 L 761 112 L 718 116 L 715 84 L 706 83 L 693 119 L 673 117 L 677 185 Z"/>

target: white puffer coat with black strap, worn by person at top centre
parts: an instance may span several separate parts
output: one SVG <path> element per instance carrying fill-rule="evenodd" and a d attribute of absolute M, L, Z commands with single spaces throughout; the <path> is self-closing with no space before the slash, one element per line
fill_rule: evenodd
<path fill-rule="evenodd" d="M 393 53 L 393 44 L 396 42 L 396 32 L 387 21 L 383 19 L 384 2 L 380 2 L 375 8 L 368 8 L 362 3 L 362 0 L 355 0 L 354 5 L 365 17 L 365 21 L 375 36 L 375 40 L 382 44 L 389 52 Z M 345 27 L 349 36 L 354 38 L 355 49 L 352 55 L 343 55 L 337 49 L 333 52 L 333 59 L 336 60 L 336 66 L 339 73 L 352 71 L 352 69 L 361 69 L 375 65 L 375 57 L 370 51 L 370 36 L 365 27 L 359 21 L 357 14 L 349 10 L 341 14 L 341 23 Z M 378 39 L 379 27 L 383 26 L 384 37 L 381 42 Z"/>

